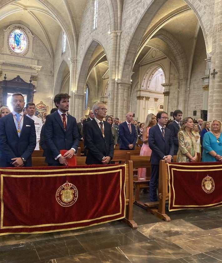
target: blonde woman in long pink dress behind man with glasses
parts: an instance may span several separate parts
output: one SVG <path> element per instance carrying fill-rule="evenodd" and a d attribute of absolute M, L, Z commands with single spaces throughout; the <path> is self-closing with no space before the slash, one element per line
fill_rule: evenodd
<path fill-rule="evenodd" d="M 150 127 L 156 125 L 156 116 L 152 113 L 148 114 L 146 117 L 146 121 L 143 127 L 143 134 L 142 140 L 143 145 L 141 147 L 140 155 L 141 156 L 150 156 L 152 150 L 148 144 L 148 136 L 149 136 L 149 129 Z M 138 169 L 138 179 L 139 180 L 146 180 L 146 168 L 139 168 Z"/>

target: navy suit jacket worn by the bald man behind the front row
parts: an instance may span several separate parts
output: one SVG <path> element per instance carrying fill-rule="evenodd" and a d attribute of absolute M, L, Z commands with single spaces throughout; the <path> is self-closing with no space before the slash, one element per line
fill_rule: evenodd
<path fill-rule="evenodd" d="M 135 148 L 136 141 L 137 141 L 137 133 L 136 133 L 136 127 L 134 124 L 131 124 L 131 131 L 132 132 L 130 134 L 130 130 L 129 130 L 129 127 L 126 121 L 119 125 L 119 138 L 121 139 L 120 149 L 130 150 L 128 147 L 129 144 L 133 144 L 134 145 L 133 149 Z"/>

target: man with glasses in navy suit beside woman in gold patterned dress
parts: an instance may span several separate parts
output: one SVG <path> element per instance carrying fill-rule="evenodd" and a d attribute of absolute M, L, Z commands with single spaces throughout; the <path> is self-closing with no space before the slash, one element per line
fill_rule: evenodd
<path fill-rule="evenodd" d="M 166 128 L 168 117 L 167 113 L 162 111 L 156 114 L 157 124 L 149 129 L 148 143 L 152 150 L 151 177 L 150 177 L 150 201 L 157 201 L 157 184 L 159 179 L 160 160 L 171 163 L 174 153 L 174 144 L 170 129 Z"/>

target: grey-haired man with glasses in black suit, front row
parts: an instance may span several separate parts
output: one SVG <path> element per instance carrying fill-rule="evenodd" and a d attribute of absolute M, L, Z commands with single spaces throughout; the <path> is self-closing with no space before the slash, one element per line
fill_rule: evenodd
<path fill-rule="evenodd" d="M 111 125 L 103 118 L 107 109 L 101 102 L 92 107 L 95 118 L 85 124 L 85 144 L 88 149 L 86 164 L 109 164 L 114 154 Z"/>

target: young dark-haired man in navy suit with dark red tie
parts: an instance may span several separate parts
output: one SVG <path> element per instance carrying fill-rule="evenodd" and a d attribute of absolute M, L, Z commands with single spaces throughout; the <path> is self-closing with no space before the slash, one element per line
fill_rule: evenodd
<path fill-rule="evenodd" d="M 54 103 L 58 110 L 46 116 L 44 137 L 48 166 L 67 165 L 67 159 L 72 158 L 77 152 L 79 134 L 76 118 L 67 114 L 70 98 L 67 93 L 57 94 Z M 62 156 L 60 150 L 67 150 L 67 152 Z"/>

